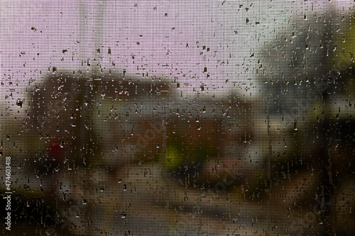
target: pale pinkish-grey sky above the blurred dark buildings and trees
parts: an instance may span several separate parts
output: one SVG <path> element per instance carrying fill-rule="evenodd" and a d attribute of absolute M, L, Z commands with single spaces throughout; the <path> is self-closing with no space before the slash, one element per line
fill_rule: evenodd
<path fill-rule="evenodd" d="M 192 96 L 202 84 L 209 95 L 229 94 L 233 84 L 257 93 L 251 55 L 290 27 L 290 18 L 329 9 L 341 15 L 352 7 L 344 1 L 100 2 L 1 1 L 1 99 L 11 91 L 18 92 L 14 101 L 24 98 L 28 82 L 48 68 L 87 69 L 82 60 L 92 64 L 97 45 L 105 72 L 176 78 Z"/>

